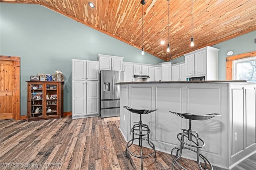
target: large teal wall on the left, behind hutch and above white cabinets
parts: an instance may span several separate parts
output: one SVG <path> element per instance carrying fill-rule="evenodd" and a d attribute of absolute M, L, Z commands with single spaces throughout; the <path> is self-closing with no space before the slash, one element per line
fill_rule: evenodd
<path fill-rule="evenodd" d="M 71 59 L 98 61 L 97 54 L 157 64 L 164 60 L 80 22 L 34 4 L 0 3 L 0 55 L 20 57 L 20 115 L 26 115 L 26 80 L 38 73 L 65 77 L 64 112 L 71 107 Z"/>

